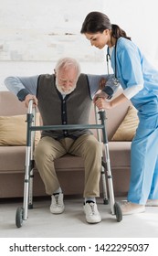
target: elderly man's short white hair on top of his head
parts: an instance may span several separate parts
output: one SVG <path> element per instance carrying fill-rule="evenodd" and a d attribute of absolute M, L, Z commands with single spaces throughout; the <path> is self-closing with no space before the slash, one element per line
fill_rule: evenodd
<path fill-rule="evenodd" d="M 80 75 L 80 65 L 79 62 L 76 59 L 73 58 L 61 58 L 58 59 L 58 62 L 56 64 L 55 70 L 58 73 L 59 69 L 68 69 L 70 67 L 73 67 L 76 69 L 77 71 L 77 80 L 79 79 L 79 75 Z"/>

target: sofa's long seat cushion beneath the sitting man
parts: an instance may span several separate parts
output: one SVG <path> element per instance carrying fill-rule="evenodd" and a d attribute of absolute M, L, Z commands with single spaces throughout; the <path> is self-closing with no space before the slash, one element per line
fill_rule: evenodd
<path fill-rule="evenodd" d="M 130 166 L 131 142 L 109 142 L 111 167 Z M 104 150 L 104 146 L 103 146 Z M 26 146 L 0 146 L 0 173 L 25 170 Z M 64 155 L 55 161 L 57 171 L 84 170 L 79 156 Z"/>

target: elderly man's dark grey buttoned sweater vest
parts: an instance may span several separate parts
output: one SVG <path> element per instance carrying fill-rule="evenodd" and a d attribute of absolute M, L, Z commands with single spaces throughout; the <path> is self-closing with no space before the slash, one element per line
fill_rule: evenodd
<path fill-rule="evenodd" d="M 54 75 L 40 75 L 37 84 L 38 109 L 43 125 L 60 124 L 88 124 L 91 98 L 90 85 L 87 75 L 80 74 L 77 87 L 64 99 L 57 90 Z M 64 137 L 78 138 L 88 129 L 43 131 L 42 136 L 51 136 L 55 139 Z"/>

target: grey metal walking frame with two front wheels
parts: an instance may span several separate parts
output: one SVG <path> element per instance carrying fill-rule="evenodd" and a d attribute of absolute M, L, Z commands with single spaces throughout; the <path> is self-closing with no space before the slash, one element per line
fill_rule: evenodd
<path fill-rule="evenodd" d="M 118 222 L 122 219 L 121 206 L 114 200 L 112 176 L 111 176 L 111 161 L 109 154 L 108 136 L 106 131 L 106 112 L 100 110 L 97 112 L 95 109 L 96 124 L 62 124 L 62 125 L 45 125 L 36 126 L 36 107 L 34 101 L 30 100 L 28 110 L 26 113 L 26 165 L 25 165 L 25 180 L 24 180 L 24 198 L 23 207 L 16 209 L 16 227 L 20 228 L 23 225 L 23 220 L 28 217 L 28 209 L 33 208 L 33 176 L 34 176 L 34 141 L 35 132 L 44 130 L 71 130 L 71 129 L 96 129 L 99 142 L 101 142 L 102 131 L 102 143 L 104 150 L 102 151 L 102 166 L 101 166 L 101 181 L 102 181 L 102 192 L 103 192 L 103 203 L 109 204 L 107 195 L 106 178 L 109 187 L 111 214 L 116 215 Z"/>

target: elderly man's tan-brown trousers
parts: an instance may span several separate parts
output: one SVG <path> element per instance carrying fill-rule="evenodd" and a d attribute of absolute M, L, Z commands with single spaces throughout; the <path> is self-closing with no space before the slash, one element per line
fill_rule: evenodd
<path fill-rule="evenodd" d="M 60 187 L 54 160 L 67 153 L 81 156 L 84 159 L 85 187 L 83 197 L 100 197 L 102 147 L 92 134 L 81 135 L 77 140 L 64 138 L 57 141 L 48 136 L 40 140 L 35 150 L 35 162 L 47 194 L 52 195 Z"/>

